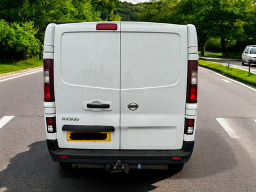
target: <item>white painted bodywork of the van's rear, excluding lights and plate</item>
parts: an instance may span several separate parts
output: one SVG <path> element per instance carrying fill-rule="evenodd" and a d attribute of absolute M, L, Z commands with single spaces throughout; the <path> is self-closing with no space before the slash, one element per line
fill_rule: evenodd
<path fill-rule="evenodd" d="M 96 31 L 96 22 L 47 27 L 44 58 L 54 58 L 55 102 L 44 103 L 45 117 L 57 122 L 47 138 L 58 138 L 60 148 L 181 149 L 183 140 L 194 140 L 183 132 L 185 117 L 196 119 L 197 104 L 186 103 L 188 60 L 198 60 L 195 27 L 111 23 L 118 30 Z M 110 108 L 87 108 L 95 102 Z M 68 142 L 65 124 L 115 130 L 110 142 Z"/>

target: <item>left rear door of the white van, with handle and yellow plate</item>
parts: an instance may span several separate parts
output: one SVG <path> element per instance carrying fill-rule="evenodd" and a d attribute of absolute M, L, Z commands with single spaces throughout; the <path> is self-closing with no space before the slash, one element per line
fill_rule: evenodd
<path fill-rule="evenodd" d="M 96 24 L 55 26 L 55 109 L 60 148 L 120 147 L 120 23 L 116 23 L 116 30 L 96 30 Z"/>

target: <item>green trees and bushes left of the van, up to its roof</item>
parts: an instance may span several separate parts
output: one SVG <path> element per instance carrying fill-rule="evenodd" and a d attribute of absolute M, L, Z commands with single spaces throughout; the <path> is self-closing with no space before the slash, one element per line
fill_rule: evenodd
<path fill-rule="evenodd" d="M 92 6 L 91 0 L 1 0 L 0 18 L 0 33 L 5 37 L 0 41 L 2 58 L 12 61 L 42 52 L 46 21 L 101 20 L 100 11 Z"/>

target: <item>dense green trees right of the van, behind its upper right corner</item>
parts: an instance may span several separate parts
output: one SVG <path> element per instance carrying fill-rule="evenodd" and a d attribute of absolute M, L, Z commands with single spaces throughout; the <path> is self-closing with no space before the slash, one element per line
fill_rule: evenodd
<path fill-rule="evenodd" d="M 140 20 L 163 23 L 192 23 L 198 31 L 199 47 L 210 38 L 220 38 L 223 55 L 226 41 L 255 39 L 256 4 L 251 0 L 159 0 L 143 9 Z"/>

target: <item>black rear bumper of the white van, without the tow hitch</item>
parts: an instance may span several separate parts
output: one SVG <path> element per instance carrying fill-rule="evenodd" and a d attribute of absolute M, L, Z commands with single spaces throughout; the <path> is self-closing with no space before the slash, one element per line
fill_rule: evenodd
<path fill-rule="evenodd" d="M 58 162 L 89 164 L 172 164 L 190 159 L 194 142 L 183 142 L 182 150 L 79 150 L 58 148 L 57 140 L 47 140 L 50 156 Z M 62 158 L 65 157 L 65 158 Z M 181 159 L 173 159 L 181 157 Z"/>

